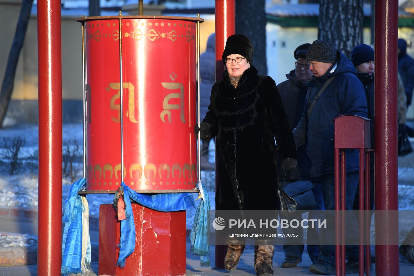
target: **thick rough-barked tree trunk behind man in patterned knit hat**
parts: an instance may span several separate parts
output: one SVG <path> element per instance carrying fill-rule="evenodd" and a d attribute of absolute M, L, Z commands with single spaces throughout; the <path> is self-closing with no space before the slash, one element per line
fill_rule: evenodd
<path fill-rule="evenodd" d="M 318 39 L 330 40 L 348 58 L 363 43 L 363 0 L 320 0 Z"/>

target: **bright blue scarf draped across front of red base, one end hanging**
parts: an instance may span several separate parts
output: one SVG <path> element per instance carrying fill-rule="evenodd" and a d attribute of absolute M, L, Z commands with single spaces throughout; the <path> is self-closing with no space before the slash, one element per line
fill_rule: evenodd
<path fill-rule="evenodd" d="M 121 182 L 124 189 L 125 220 L 121 220 L 121 233 L 119 243 L 119 257 L 117 266 L 124 267 L 125 259 L 135 250 L 135 223 L 132 214 L 131 200 L 136 203 L 161 212 L 182 211 L 190 207 L 195 208 L 194 198 L 190 193 L 168 193 L 146 195 L 138 194 Z"/>

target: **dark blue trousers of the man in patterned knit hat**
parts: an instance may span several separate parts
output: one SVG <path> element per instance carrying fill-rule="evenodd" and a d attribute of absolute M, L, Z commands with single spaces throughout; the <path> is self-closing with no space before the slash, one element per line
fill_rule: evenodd
<path fill-rule="evenodd" d="M 349 172 L 346 174 L 346 199 L 345 209 L 347 211 L 353 210 L 356 188 L 359 181 L 359 172 Z M 325 199 L 325 209 L 335 210 L 335 177 L 333 174 L 325 175 L 316 180 L 323 187 L 323 195 Z M 327 228 L 322 228 L 320 231 L 319 245 L 319 259 L 329 264 L 335 265 L 335 245 L 327 245 L 327 241 L 335 241 L 335 215 L 332 212 L 327 212 Z M 358 220 L 355 215 L 351 214 L 347 218 L 347 229 L 355 229 L 355 231 L 346 231 L 346 238 L 351 240 L 352 236 L 358 235 Z M 345 251 L 348 261 L 358 261 L 358 246 L 346 245 Z"/>

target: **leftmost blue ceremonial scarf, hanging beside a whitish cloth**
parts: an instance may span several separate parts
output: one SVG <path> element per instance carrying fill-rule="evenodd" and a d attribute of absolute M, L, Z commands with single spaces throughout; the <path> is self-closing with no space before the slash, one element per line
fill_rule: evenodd
<path fill-rule="evenodd" d="M 88 236 L 86 254 L 82 260 L 82 213 L 85 206 L 82 203 L 82 196 L 77 192 L 84 189 L 85 178 L 80 178 L 70 187 L 69 197 L 64 203 L 64 215 L 62 222 L 65 223 L 62 240 L 62 274 L 89 272 L 91 264 L 91 242 Z M 89 230 L 88 230 L 89 231 Z M 82 265 L 83 264 L 83 265 Z"/>

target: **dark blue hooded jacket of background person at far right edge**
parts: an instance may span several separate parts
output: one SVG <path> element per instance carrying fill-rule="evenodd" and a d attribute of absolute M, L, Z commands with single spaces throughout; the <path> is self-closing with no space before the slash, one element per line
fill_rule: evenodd
<path fill-rule="evenodd" d="M 398 73 L 400 73 L 402 83 L 404 84 L 407 95 L 407 106 L 411 104 L 414 88 L 414 60 L 407 55 L 407 42 L 404 39 L 398 39 Z"/>

